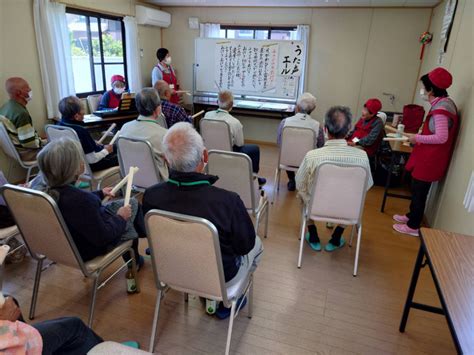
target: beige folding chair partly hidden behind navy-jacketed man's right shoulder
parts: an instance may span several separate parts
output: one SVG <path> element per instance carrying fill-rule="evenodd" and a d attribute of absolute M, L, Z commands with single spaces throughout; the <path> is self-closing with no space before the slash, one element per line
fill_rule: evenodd
<path fill-rule="evenodd" d="M 258 181 L 252 173 L 252 160 L 247 154 L 210 150 L 207 171 L 217 175 L 214 186 L 237 193 L 245 208 L 255 217 L 255 232 L 258 234 L 260 221 L 265 215 L 264 238 L 268 232 L 269 206 L 266 196 L 260 195 Z"/>

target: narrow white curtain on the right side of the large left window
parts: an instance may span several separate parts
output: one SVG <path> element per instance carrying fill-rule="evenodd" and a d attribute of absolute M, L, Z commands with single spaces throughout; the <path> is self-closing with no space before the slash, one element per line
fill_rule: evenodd
<path fill-rule="evenodd" d="M 142 88 L 140 70 L 140 49 L 138 48 L 138 27 L 135 17 L 125 16 L 125 43 L 127 46 L 127 79 L 130 92 L 138 92 Z"/>

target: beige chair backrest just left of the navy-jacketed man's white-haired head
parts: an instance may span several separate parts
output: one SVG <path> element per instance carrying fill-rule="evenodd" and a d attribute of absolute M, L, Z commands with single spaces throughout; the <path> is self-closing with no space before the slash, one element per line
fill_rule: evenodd
<path fill-rule="evenodd" d="M 139 168 L 133 176 L 133 185 L 146 189 L 161 181 L 150 142 L 142 139 L 119 137 L 117 150 L 122 176 L 127 175 L 132 166 Z"/>

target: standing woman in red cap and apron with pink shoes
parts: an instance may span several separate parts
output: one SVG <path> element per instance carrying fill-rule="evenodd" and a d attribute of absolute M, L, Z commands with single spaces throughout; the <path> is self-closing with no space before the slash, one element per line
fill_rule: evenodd
<path fill-rule="evenodd" d="M 431 183 L 446 175 L 459 127 L 456 105 L 446 91 L 453 81 L 451 74 L 446 69 L 436 68 L 420 80 L 423 83 L 420 95 L 429 101 L 431 109 L 420 134 L 406 133 L 415 145 L 406 165 L 412 176 L 410 211 L 393 216 L 399 222 L 393 229 L 411 236 L 419 235 Z"/>

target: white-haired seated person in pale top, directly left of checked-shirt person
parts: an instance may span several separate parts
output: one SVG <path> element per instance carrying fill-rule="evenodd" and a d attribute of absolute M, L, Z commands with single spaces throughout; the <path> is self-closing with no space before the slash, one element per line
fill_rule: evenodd
<path fill-rule="evenodd" d="M 316 108 L 316 98 L 309 92 L 303 93 L 296 103 L 296 115 L 281 120 L 278 126 L 277 144 L 281 147 L 281 135 L 285 127 L 303 127 L 314 131 L 314 147 L 321 148 L 324 145 L 324 131 L 318 121 L 311 117 L 311 112 Z M 288 175 L 288 191 L 295 191 L 295 172 L 286 171 Z"/>

